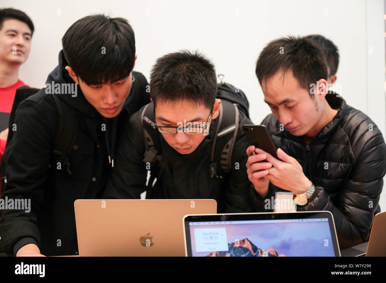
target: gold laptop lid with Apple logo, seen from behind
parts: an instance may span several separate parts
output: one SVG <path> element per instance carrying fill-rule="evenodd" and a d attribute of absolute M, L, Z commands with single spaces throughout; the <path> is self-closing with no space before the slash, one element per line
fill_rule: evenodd
<path fill-rule="evenodd" d="M 185 256 L 185 214 L 216 213 L 214 199 L 78 199 L 79 256 Z"/>

